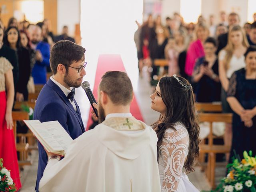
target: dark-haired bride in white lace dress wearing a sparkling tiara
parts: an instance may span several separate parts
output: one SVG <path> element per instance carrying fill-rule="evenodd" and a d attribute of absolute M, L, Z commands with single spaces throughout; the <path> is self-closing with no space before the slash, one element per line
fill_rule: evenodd
<path fill-rule="evenodd" d="M 162 77 L 150 96 L 151 108 L 160 112 L 152 126 L 158 136 L 158 166 L 162 192 L 199 192 L 186 172 L 199 154 L 199 126 L 192 86 L 182 77 Z"/>

